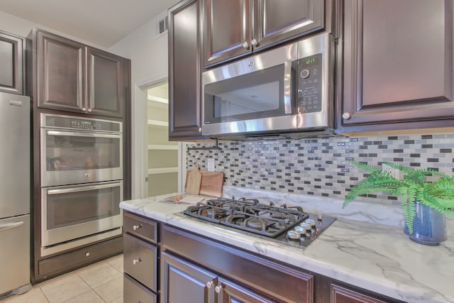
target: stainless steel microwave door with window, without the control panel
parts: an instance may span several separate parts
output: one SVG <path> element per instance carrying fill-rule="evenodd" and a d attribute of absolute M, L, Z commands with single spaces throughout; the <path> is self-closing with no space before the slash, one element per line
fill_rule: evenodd
<path fill-rule="evenodd" d="M 297 128 L 292 61 L 297 44 L 202 74 L 202 135 Z"/>

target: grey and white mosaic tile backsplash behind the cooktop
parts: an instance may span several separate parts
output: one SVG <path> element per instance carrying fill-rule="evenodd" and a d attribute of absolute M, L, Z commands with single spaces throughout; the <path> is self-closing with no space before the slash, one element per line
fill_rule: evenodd
<path fill-rule="evenodd" d="M 213 142 L 191 148 L 210 148 Z M 187 168 L 199 162 L 207 170 L 214 158 L 224 184 L 279 192 L 344 199 L 348 189 L 367 174 L 348 160 L 380 166 L 397 162 L 414 168 L 454 172 L 454 133 L 433 135 L 333 137 L 276 141 L 219 141 L 220 150 L 187 150 Z M 399 204 L 398 198 L 377 192 L 358 201 Z"/>

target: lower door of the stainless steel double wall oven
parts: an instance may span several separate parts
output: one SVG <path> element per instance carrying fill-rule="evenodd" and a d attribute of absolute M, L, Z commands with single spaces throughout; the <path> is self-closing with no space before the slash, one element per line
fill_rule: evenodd
<path fill-rule="evenodd" d="M 41 194 L 41 246 L 94 236 L 123 224 L 123 181 L 43 187 Z"/>

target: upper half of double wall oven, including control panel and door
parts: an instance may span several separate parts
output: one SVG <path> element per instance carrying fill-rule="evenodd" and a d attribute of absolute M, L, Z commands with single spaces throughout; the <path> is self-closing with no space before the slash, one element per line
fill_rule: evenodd
<path fill-rule="evenodd" d="M 40 115 L 41 187 L 121 180 L 122 123 Z"/>

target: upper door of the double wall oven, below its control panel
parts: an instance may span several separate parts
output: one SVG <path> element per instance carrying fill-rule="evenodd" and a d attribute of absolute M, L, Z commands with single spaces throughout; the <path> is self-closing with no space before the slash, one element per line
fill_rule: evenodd
<path fill-rule="evenodd" d="M 121 133 L 41 128 L 41 187 L 123 179 Z"/>

